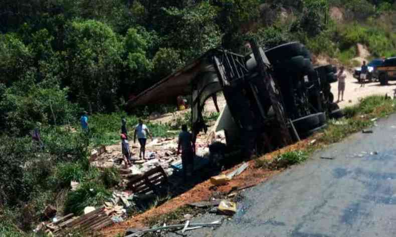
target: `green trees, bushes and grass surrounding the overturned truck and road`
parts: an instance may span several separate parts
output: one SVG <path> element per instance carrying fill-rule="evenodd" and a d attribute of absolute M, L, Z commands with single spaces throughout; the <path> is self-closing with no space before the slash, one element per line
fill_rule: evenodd
<path fill-rule="evenodd" d="M 342 7 L 344 21 L 329 18 L 332 6 Z M 279 14 L 284 9 L 286 15 Z M 20 236 L 19 229 L 32 230 L 48 204 L 76 213 L 85 204 L 99 205 L 119 174 L 90 167 L 92 148 L 119 142 L 122 117 L 131 134 L 138 117 L 174 111 L 174 105 L 133 114 L 124 109 L 131 95 L 208 49 L 246 53 L 251 37 L 265 47 L 300 40 L 315 54 L 353 65 L 356 43 L 375 57 L 394 55 L 395 10 L 394 0 L 1 1 L 0 232 Z M 331 122 L 323 142 L 372 124 L 367 117 L 393 111 L 388 100 L 377 99 L 347 108 L 348 117 L 342 125 Z M 380 109 L 370 111 L 374 104 Z M 79 125 L 83 110 L 90 114 L 87 133 Z M 359 117 L 362 111 L 369 115 Z M 171 124 L 146 124 L 154 136 L 166 136 L 190 119 L 186 113 Z M 43 148 L 32 142 L 35 127 Z M 283 156 L 276 165 L 299 162 L 299 155 Z M 81 183 L 76 191 L 70 190 L 72 180 Z M 5 222 L 4 216 L 13 217 Z"/>

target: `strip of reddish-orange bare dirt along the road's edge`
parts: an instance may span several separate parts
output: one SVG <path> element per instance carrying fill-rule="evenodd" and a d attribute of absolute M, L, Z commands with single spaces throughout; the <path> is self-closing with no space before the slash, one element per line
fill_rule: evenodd
<path fill-rule="evenodd" d="M 319 135 L 319 134 L 317 134 Z M 315 135 L 315 137 L 317 137 Z M 295 144 L 291 144 L 289 146 L 283 147 L 279 150 L 268 153 L 260 159 L 272 159 L 272 157 L 276 157 L 280 153 L 284 153 L 290 150 L 299 150 L 305 148 L 309 145 L 309 142 L 314 139 L 313 137 L 301 140 Z M 229 170 L 224 171 L 223 173 L 229 173 L 234 170 L 236 167 L 230 168 Z M 216 190 L 210 189 L 213 186 L 210 180 L 197 184 L 190 190 L 184 192 L 183 194 L 172 198 L 171 200 L 163 203 L 160 206 L 152 208 L 150 210 L 145 211 L 144 213 L 138 214 L 136 216 L 132 216 L 128 220 L 114 224 L 108 228 L 102 230 L 102 234 L 104 236 L 115 236 L 118 233 L 123 234 L 127 228 L 141 228 L 145 227 L 145 223 L 149 220 L 149 218 L 162 215 L 165 213 L 169 213 L 180 206 L 183 206 L 187 203 L 208 200 L 211 194 L 214 191 L 217 192 L 229 192 L 233 187 L 247 187 L 251 185 L 257 185 L 268 178 L 280 173 L 282 170 L 267 170 L 264 168 L 255 168 L 255 161 L 249 161 L 249 167 L 242 172 L 240 175 L 234 177 L 227 185 L 219 186 Z"/>

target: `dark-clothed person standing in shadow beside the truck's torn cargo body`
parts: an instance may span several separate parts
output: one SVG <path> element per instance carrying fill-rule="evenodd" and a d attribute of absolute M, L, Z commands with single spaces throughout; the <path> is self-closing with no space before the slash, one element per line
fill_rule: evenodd
<path fill-rule="evenodd" d="M 190 168 L 191 173 L 194 170 L 194 149 L 192 134 L 187 131 L 187 125 L 181 126 L 181 132 L 179 133 L 179 140 L 177 142 L 177 155 L 180 154 L 181 149 L 181 163 L 183 165 L 183 177 L 186 181 L 187 174 L 190 174 L 187 170 Z"/>

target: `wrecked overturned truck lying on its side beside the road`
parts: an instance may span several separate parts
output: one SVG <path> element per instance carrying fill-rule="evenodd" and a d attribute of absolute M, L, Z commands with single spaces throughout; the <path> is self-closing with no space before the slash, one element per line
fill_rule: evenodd
<path fill-rule="evenodd" d="M 251 48 L 248 55 L 212 49 L 128 104 L 174 104 L 178 95 L 190 95 L 196 138 L 207 129 L 206 100 L 222 92 L 227 105 L 219 129 L 225 131 L 227 146 L 241 148 L 245 156 L 290 144 L 323 128 L 326 116 L 341 115 L 330 91 L 337 80 L 333 65 L 314 67 L 299 42 L 264 50 L 252 41 Z"/>

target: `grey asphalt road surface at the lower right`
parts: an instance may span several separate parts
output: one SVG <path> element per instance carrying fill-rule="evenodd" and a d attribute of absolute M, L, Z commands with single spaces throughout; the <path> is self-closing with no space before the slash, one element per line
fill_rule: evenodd
<path fill-rule="evenodd" d="M 373 133 L 354 134 L 244 191 L 238 212 L 221 227 L 185 234 L 396 236 L 396 115 L 377 124 Z M 191 223 L 219 218 L 206 214 Z"/>

